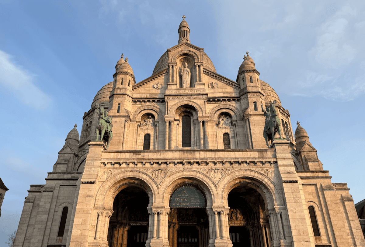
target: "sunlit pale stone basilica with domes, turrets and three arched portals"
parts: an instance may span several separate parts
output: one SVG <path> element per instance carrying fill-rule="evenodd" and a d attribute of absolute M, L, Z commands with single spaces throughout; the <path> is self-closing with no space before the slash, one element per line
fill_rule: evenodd
<path fill-rule="evenodd" d="M 331 182 L 299 123 L 293 134 L 248 52 L 228 79 L 189 32 L 183 20 L 141 82 L 119 59 L 80 138 L 75 126 L 46 183 L 30 185 L 15 246 L 365 246 L 347 185 Z M 270 103 L 282 138 L 268 148 Z M 109 146 L 95 141 L 104 120 Z"/>

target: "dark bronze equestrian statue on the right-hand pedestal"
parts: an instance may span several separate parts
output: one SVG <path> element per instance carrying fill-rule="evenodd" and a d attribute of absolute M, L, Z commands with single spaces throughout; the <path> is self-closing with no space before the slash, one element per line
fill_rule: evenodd
<path fill-rule="evenodd" d="M 261 109 L 264 112 L 265 118 L 265 127 L 264 127 L 264 138 L 266 141 L 266 145 L 269 146 L 269 140 L 271 143 L 274 141 L 275 134 L 279 132 L 280 139 L 281 137 L 281 130 L 280 130 L 280 119 L 277 116 L 276 108 L 274 105 L 275 101 L 270 103 L 270 106 L 266 107 L 266 110 L 261 104 Z"/>

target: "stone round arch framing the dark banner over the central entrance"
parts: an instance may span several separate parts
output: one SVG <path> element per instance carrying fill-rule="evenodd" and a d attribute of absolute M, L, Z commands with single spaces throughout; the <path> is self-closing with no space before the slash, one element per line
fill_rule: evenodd
<path fill-rule="evenodd" d="M 181 184 L 192 184 L 202 189 L 205 194 L 205 199 L 207 199 L 207 207 L 211 207 L 212 204 L 215 203 L 217 187 L 214 181 L 203 172 L 193 169 L 184 169 L 169 173 L 169 175 L 161 181 L 160 191 L 162 193 L 162 202 L 165 207 L 169 207 L 172 193 L 175 189 L 180 187 Z"/>

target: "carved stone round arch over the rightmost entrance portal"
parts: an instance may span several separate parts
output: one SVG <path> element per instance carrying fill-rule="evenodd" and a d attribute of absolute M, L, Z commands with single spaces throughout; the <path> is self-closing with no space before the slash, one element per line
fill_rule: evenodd
<path fill-rule="evenodd" d="M 281 190 L 276 188 L 273 181 L 264 173 L 250 169 L 235 169 L 226 173 L 218 183 L 219 195 L 222 196 L 220 201 L 228 206 L 229 192 L 240 184 L 256 189 L 264 199 L 266 208 L 276 206 L 278 199 L 281 198 Z"/>

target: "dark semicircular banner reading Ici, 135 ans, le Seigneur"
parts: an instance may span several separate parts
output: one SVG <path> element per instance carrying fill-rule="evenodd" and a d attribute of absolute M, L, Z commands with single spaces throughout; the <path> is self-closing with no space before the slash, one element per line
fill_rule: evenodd
<path fill-rule="evenodd" d="M 206 206 L 203 193 L 190 185 L 178 188 L 170 198 L 172 208 L 205 208 Z"/>

